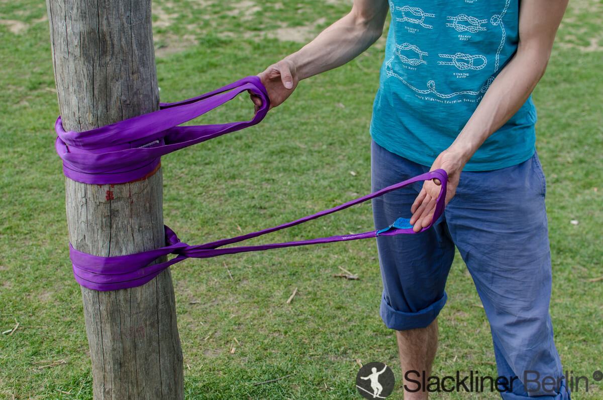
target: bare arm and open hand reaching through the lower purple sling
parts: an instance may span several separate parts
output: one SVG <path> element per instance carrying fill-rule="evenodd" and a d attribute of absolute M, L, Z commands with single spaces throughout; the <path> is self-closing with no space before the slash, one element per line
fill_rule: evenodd
<path fill-rule="evenodd" d="M 522 0 L 519 8 L 519 44 L 513 58 L 485 92 L 463 130 L 440 153 L 431 170 L 448 173 L 446 204 L 455 195 L 461 171 L 479 146 L 503 126 L 528 100 L 545 74 L 557 28 L 568 0 Z M 411 224 L 418 232 L 429 226 L 440 193 L 439 182 L 426 181 L 412 204 Z"/>

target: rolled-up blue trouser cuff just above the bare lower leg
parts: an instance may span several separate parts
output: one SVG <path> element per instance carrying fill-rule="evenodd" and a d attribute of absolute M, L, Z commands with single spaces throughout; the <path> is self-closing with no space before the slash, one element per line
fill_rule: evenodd
<path fill-rule="evenodd" d="M 385 295 L 382 295 L 379 314 L 385 326 L 396 331 L 408 331 L 408 329 L 427 327 L 438 317 L 441 309 L 444 308 L 444 304 L 446 304 L 447 298 L 446 291 L 444 291 L 440 300 L 437 300 L 428 307 L 417 312 L 404 312 L 393 309 L 385 299 Z"/>

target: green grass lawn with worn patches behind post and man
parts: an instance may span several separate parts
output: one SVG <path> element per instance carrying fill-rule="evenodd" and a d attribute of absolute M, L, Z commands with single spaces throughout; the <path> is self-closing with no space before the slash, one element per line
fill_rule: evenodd
<path fill-rule="evenodd" d="M 316 0 L 154 2 L 162 101 L 262 71 L 301 45 L 274 36 L 309 39 L 349 7 L 327 3 L 320 2 L 319 19 Z M 573 3 L 534 100 L 548 175 L 555 338 L 564 366 L 591 376 L 603 369 L 603 280 L 596 280 L 603 275 L 602 10 L 595 0 Z M 53 146 L 58 107 L 45 13 L 31 0 L 0 3 L 0 332 L 19 323 L 13 334 L 0 335 L 0 398 L 89 399 L 90 360 Z M 368 121 L 382 47 L 381 39 L 349 65 L 303 82 L 259 126 L 165 156 L 166 224 L 199 244 L 368 193 Z M 247 99 L 235 100 L 201 123 L 250 112 Z M 370 205 L 361 205 L 262 240 L 370 229 Z M 361 279 L 333 278 L 339 266 Z M 381 361 L 402 375 L 393 334 L 378 315 L 381 283 L 371 240 L 187 260 L 172 276 L 188 399 L 360 398 L 356 360 Z M 460 257 L 447 292 L 434 373 L 493 375 L 488 322 Z M 59 360 L 65 363 L 53 363 Z M 603 383 L 592 379 L 589 393 L 575 393 L 602 397 Z"/>

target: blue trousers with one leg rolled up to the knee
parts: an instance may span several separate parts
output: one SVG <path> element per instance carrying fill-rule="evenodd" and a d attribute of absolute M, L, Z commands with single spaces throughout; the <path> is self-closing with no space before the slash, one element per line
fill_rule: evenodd
<path fill-rule="evenodd" d="M 373 192 L 428 170 L 371 144 Z M 373 199 L 375 228 L 409 218 L 422 186 L 417 182 Z M 405 331 L 435 320 L 446 303 L 444 288 L 456 245 L 490 321 L 499 375 L 522 380 L 526 371 L 562 376 L 549 315 L 552 274 L 545 192 L 536 154 L 513 167 L 463 172 L 456 195 L 431 229 L 378 236 L 384 285 L 380 315 L 385 324 Z M 515 383 L 513 393 L 502 393 L 504 399 L 527 398 L 524 385 Z M 560 393 L 534 389 L 535 383 L 528 383 L 531 396 L 569 398 L 563 380 Z"/>

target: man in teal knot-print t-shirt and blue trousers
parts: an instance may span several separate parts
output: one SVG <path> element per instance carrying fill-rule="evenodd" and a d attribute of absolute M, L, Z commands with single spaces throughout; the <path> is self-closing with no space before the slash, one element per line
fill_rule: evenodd
<path fill-rule="evenodd" d="M 448 173 L 447 207 L 434 227 L 377 238 L 380 315 L 396 330 L 403 372 L 431 371 L 456 245 L 490 321 L 498 373 L 513 381 L 502 397 L 569 398 L 549 316 L 546 183 L 530 97 L 566 6 L 567 0 L 355 0 L 348 15 L 259 74 L 278 106 L 301 79 L 370 47 L 391 12 L 370 129 L 373 190 L 429 169 Z M 408 210 L 415 231 L 429 225 L 439 183 L 375 199 L 375 227 Z M 405 381 L 405 399 L 427 398 L 415 389 Z"/>

